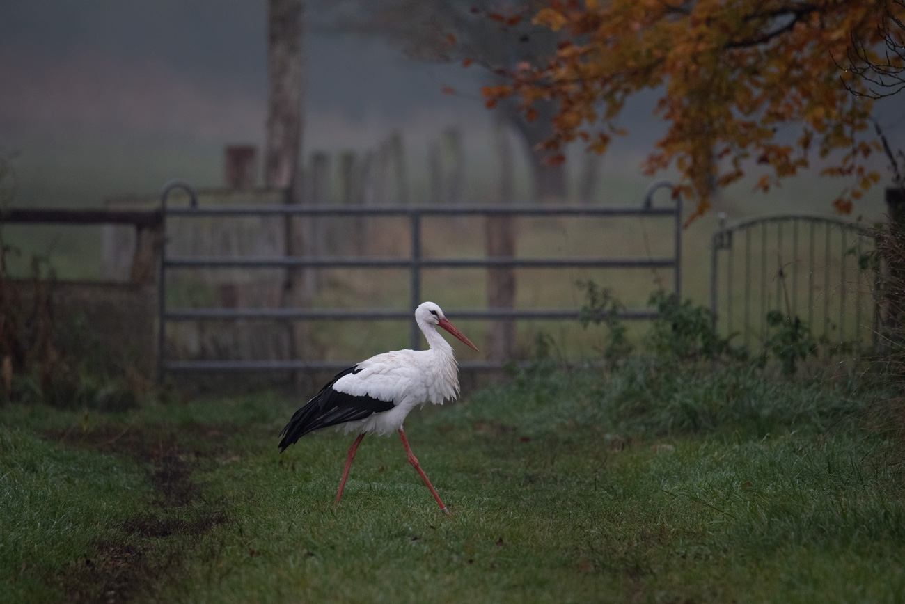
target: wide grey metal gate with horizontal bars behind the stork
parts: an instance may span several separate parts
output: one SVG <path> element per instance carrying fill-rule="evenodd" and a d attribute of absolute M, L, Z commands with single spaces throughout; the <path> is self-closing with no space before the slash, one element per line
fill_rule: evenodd
<path fill-rule="evenodd" d="M 414 322 L 414 309 L 421 304 L 421 279 L 424 269 L 450 268 L 602 268 L 602 269 L 672 269 L 673 290 L 681 293 L 681 199 L 674 200 L 672 207 L 654 207 L 653 193 L 659 189 L 671 189 L 667 183 L 654 184 L 638 207 L 619 206 L 540 206 L 540 205 L 405 205 L 405 206 L 348 206 L 337 204 L 306 205 L 295 203 L 247 204 L 231 206 L 201 206 L 197 203 L 195 190 L 185 182 L 174 181 L 165 185 L 161 193 L 160 213 L 163 220 L 164 244 L 160 253 L 158 289 L 158 379 L 167 372 L 176 371 L 303 371 L 337 370 L 354 364 L 350 362 L 288 360 L 176 360 L 167 358 L 166 327 L 168 324 L 186 321 L 311 321 L 311 320 L 405 320 L 411 325 L 411 346 L 418 349 L 421 332 Z M 188 194 L 189 203 L 184 207 L 167 204 L 170 193 L 182 190 Z M 661 217 L 672 219 L 674 223 L 674 245 L 672 255 L 662 258 L 505 258 L 483 259 L 424 258 L 422 255 L 422 222 L 429 216 L 606 216 L 606 217 Z M 167 254 L 167 218 L 203 217 L 323 217 L 323 216 L 405 216 L 409 222 L 408 258 L 369 257 L 171 257 Z M 386 308 L 366 308 L 361 310 L 322 308 L 171 308 L 167 306 L 167 273 L 178 269 L 408 269 L 410 282 L 409 308 L 404 310 Z M 451 310 L 448 316 L 456 319 L 519 320 L 519 319 L 561 319 L 577 320 L 579 309 L 517 309 L 485 308 L 472 310 Z M 626 310 L 620 315 L 627 320 L 649 320 L 657 316 L 653 310 Z M 464 369 L 499 369 L 502 361 L 481 361 L 461 363 Z"/>

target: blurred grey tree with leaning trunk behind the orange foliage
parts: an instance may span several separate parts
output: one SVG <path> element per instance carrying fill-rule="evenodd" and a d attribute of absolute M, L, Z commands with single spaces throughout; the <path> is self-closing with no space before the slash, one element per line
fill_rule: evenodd
<path fill-rule="evenodd" d="M 506 81 L 504 74 L 525 61 L 542 61 L 557 51 L 562 34 L 531 24 L 534 4 L 531 0 L 348 0 L 340 14 L 346 24 L 385 36 L 415 59 L 484 68 L 485 83 L 500 85 Z M 557 153 L 542 148 L 555 134 L 552 119 L 557 100 L 538 99 L 527 115 L 519 111 L 515 99 L 495 99 L 490 105 L 524 141 L 538 199 L 565 199 L 565 168 Z"/>

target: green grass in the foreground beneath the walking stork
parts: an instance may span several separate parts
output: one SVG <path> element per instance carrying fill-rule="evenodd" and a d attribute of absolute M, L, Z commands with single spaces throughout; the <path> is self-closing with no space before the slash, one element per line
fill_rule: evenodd
<path fill-rule="evenodd" d="M 538 365 L 407 422 L 450 517 L 398 438 L 363 441 L 332 511 L 351 438 L 281 456 L 278 394 L 11 404 L 0 577 L 13 601 L 901 601 L 901 443 L 868 385 Z"/>

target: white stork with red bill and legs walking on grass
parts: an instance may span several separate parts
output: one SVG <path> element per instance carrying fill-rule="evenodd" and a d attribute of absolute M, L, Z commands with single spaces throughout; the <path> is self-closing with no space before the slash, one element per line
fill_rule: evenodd
<path fill-rule="evenodd" d="M 456 336 L 474 350 L 478 347 L 452 326 L 443 316 L 443 310 L 433 302 L 424 302 L 414 311 L 414 319 L 427 338 L 428 350 L 396 350 L 392 353 L 377 354 L 357 363 L 354 367 L 338 373 L 320 389 L 317 396 L 296 411 L 282 429 L 280 452 L 310 431 L 336 426 L 344 433 L 357 431 L 358 438 L 348 449 L 346 469 L 339 481 L 337 499 L 333 509 L 342 498 L 346 486 L 348 468 L 355 459 L 355 451 L 361 439 L 369 432 L 388 434 L 398 431 L 412 464 L 431 489 L 441 511 L 449 514 L 437 495 L 431 481 L 408 446 L 402 424 L 405 416 L 416 406 L 424 407 L 427 401 L 443 404 L 445 399 L 454 399 L 459 394 L 459 371 L 452 354 L 452 346 L 437 333 L 437 326 Z"/>

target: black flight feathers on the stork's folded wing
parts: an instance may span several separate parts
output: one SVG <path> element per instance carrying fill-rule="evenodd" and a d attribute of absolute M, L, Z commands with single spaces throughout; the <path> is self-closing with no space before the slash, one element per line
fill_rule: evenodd
<path fill-rule="evenodd" d="M 336 426 L 347 421 L 364 420 L 373 413 L 393 409 L 393 401 L 381 401 L 367 394 L 353 396 L 333 390 L 333 384 L 339 378 L 360 371 L 356 366 L 337 373 L 336 377 L 320 389 L 317 396 L 292 415 L 292 419 L 280 432 L 282 437 L 280 452 L 316 429 Z"/>

